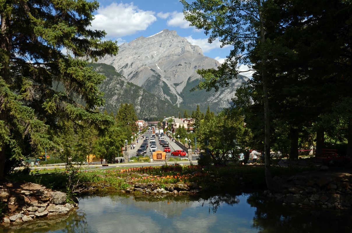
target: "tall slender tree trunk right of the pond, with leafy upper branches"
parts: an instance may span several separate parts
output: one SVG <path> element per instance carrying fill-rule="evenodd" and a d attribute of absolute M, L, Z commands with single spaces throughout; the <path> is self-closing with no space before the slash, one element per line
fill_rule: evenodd
<path fill-rule="evenodd" d="M 260 0 L 257 0 L 259 8 L 259 21 L 260 21 L 260 43 L 262 46 L 265 44 L 265 27 L 262 18 L 262 5 Z M 262 51 L 262 54 L 265 54 Z M 269 190 L 272 190 L 272 177 L 271 177 L 271 168 L 270 168 L 270 109 L 269 109 L 269 94 L 268 94 L 268 80 L 266 78 L 266 58 L 262 56 L 262 66 L 260 67 L 260 74 L 263 81 L 263 95 L 264 95 L 264 157 L 265 157 L 265 181 L 266 186 Z"/>

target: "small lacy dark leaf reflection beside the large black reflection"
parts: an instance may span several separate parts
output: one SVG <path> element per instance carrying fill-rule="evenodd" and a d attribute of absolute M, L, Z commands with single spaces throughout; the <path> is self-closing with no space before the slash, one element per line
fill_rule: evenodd
<path fill-rule="evenodd" d="M 230 206 L 233 206 L 234 204 L 238 204 L 240 200 L 237 197 L 238 194 L 221 194 L 221 195 L 213 195 L 213 196 L 202 196 L 199 199 L 199 202 L 202 203 L 202 207 L 206 202 L 209 203 L 209 213 L 210 209 L 213 211 L 213 213 L 216 213 L 218 211 L 218 208 L 221 203 L 226 203 Z"/>

